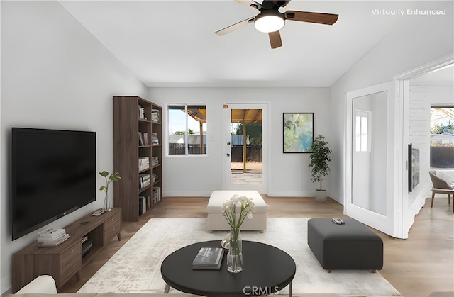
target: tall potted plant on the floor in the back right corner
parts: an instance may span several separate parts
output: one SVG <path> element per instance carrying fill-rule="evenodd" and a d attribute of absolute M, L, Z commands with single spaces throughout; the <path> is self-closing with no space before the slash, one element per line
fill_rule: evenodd
<path fill-rule="evenodd" d="M 316 189 L 315 195 L 315 200 L 317 202 L 326 201 L 326 190 L 323 189 L 321 181 L 323 181 L 323 176 L 327 176 L 330 171 L 328 166 L 328 162 L 331 162 L 330 155 L 331 150 L 328 147 L 328 142 L 326 142 L 325 137 L 320 134 L 319 136 L 314 137 L 309 167 L 312 168 L 312 181 L 320 181 L 320 189 Z"/>

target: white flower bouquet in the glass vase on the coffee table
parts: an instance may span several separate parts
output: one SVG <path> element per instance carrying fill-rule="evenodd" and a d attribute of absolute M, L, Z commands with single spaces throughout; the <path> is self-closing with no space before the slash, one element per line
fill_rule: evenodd
<path fill-rule="evenodd" d="M 240 208 L 239 213 L 237 213 L 237 207 Z M 254 202 L 246 196 L 238 196 L 237 194 L 224 202 L 221 208 L 221 213 L 226 217 L 231 228 L 240 228 L 246 217 L 253 218 L 254 212 Z"/>

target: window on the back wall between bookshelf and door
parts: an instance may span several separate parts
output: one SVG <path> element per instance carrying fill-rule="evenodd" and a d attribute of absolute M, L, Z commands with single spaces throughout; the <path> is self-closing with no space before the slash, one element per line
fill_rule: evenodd
<path fill-rule="evenodd" d="M 168 154 L 206 155 L 206 106 L 172 104 L 168 110 Z"/>

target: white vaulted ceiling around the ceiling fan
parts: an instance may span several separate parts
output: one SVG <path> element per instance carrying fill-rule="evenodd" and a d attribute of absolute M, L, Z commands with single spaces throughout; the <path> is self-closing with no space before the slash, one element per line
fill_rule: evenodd
<path fill-rule="evenodd" d="M 402 18 L 374 15 L 414 1 L 300 1 L 280 11 L 338 13 L 333 26 L 286 21 L 282 47 L 249 24 L 258 11 L 233 0 L 60 1 L 146 86 L 332 86 Z"/>

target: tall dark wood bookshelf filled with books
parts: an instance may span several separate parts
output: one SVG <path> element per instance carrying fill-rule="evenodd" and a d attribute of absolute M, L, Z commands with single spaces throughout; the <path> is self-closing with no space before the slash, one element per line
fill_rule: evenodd
<path fill-rule="evenodd" d="M 141 113 L 139 106 L 143 108 Z M 157 121 L 153 111 L 159 113 Z M 144 118 L 140 118 L 142 115 Z M 136 222 L 154 203 L 162 198 L 162 107 L 138 96 L 114 97 L 114 172 L 121 180 L 114 183 L 114 206 L 123 209 L 123 220 Z M 155 133 L 155 137 L 153 137 Z M 140 140 L 142 136 L 143 142 Z M 159 144 L 153 144 L 157 138 Z M 139 158 L 148 157 L 149 166 L 139 168 Z M 152 157 L 159 163 L 152 165 Z M 140 188 L 139 174 L 148 174 L 150 184 Z M 156 180 L 152 182 L 153 174 Z M 160 195 L 153 199 L 153 187 Z M 139 206 L 140 196 L 147 201 L 145 210 Z M 142 213 L 140 213 L 142 210 Z"/>

